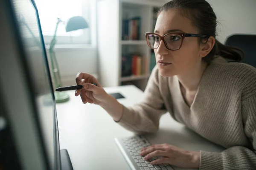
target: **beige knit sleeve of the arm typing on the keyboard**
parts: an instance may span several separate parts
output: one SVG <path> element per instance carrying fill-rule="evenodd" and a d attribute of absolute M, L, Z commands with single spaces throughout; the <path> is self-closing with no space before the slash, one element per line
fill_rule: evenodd
<path fill-rule="evenodd" d="M 200 170 L 256 170 L 256 93 L 242 100 L 244 132 L 250 146 L 233 146 L 221 153 L 201 151 Z"/>

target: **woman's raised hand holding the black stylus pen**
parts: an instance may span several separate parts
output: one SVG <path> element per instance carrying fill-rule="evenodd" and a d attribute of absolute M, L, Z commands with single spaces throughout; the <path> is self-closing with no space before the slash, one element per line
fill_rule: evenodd
<path fill-rule="evenodd" d="M 97 79 L 90 74 L 78 72 L 76 75 L 76 84 L 83 85 L 84 88 L 76 90 L 75 95 L 81 96 L 82 102 L 100 105 L 108 99 L 108 94 L 99 84 Z M 94 85 L 96 84 L 96 85 Z"/>

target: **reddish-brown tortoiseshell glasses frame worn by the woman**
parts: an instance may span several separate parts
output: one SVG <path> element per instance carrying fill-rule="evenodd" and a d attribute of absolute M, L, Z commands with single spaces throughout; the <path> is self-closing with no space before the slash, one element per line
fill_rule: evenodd
<path fill-rule="evenodd" d="M 183 44 L 183 40 L 184 40 L 185 37 L 204 37 L 204 38 L 209 38 L 209 36 L 207 36 L 207 35 L 189 34 L 189 33 L 185 33 L 185 32 L 171 32 L 171 33 L 167 33 L 167 34 L 165 34 L 165 35 L 163 35 L 163 36 L 161 36 L 161 35 L 159 35 L 159 34 L 156 34 L 156 33 L 146 32 L 146 33 L 145 33 L 145 37 L 146 37 L 146 40 L 147 40 L 147 44 L 148 44 L 148 47 L 151 48 L 151 49 L 157 49 L 157 48 L 159 47 L 159 45 L 160 45 L 160 42 L 159 42 L 157 48 L 152 48 L 152 47 L 149 45 L 149 42 L 148 42 L 148 35 L 149 35 L 149 34 L 157 35 L 157 36 L 160 38 L 160 42 L 161 42 L 161 40 L 163 40 L 164 45 L 166 46 L 166 48 L 167 48 L 168 50 L 172 50 L 172 49 L 169 49 L 169 48 L 168 48 L 168 46 L 167 46 L 167 44 L 166 44 L 166 41 L 164 40 L 164 37 L 167 36 L 167 35 L 170 35 L 170 34 L 171 34 L 171 35 L 180 35 L 180 37 L 181 37 L 180 47 L 179 47 L 178 49 L 175 49 L 175 50 L 172 50 L 172 51 L 176 51 L 176 50 L 179 50 L 179 49 L 181 48 L 181 46 L 182 46 L 182 44 Z"/>

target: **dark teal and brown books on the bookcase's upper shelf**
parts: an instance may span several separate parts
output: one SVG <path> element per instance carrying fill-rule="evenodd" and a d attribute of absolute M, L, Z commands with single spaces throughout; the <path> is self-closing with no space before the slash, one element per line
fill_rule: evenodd
<path fill-rule="evenodd" d="M 122 21 L 122 40 L 140 40 L 140 17 Z"/>

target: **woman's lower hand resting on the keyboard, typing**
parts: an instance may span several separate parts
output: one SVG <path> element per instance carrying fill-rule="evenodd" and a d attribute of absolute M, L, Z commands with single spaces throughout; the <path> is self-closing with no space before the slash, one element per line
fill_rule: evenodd
<path fill-rule="evenodd" d="M 154 144 L 144 147 L 140 151 L 141 156 L 148 160 L 153 157 L 160 157 L 150 163 L 171 164 L 183 168 L 199 168 L 200 153 L 180 149 L 169 144 Z"/>

